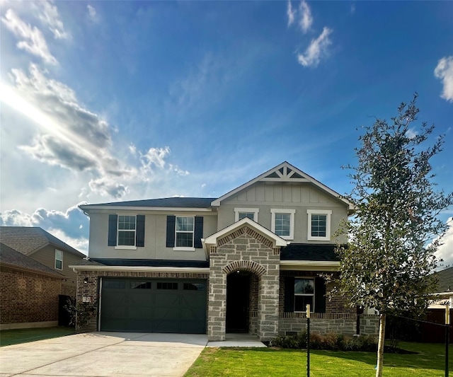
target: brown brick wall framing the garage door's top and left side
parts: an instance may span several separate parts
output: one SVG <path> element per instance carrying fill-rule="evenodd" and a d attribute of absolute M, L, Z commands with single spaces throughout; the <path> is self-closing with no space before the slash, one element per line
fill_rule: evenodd
<path fill-rule="evenodd" d="M 88 277 L 88 283 L 84 283 Z M 89 301 L 98 305 L 99 299 L 99 279 L 101 277 L 142 277 L 142 278 L 162 278 L 162 279 L 207 279 L 207 272 L 197 274 L 193 272 L 139 272 L 139 271 L 79 271 L 77 274 L 77 302 Z M 209 282 L 207 291 L 209 291 Z M 80 328 L 76 327 L 77 332 L 98 330 L 98 315 L 94 316 L 89 325 Z"/>

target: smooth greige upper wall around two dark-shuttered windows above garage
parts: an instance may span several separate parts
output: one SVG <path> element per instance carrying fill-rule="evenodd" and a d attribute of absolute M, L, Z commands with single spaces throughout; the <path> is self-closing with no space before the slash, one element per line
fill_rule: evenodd
<path fill-rule="evenodd" d="M 144 247 L 137 250 L 121 249 L 108 246 L 108 215 L 112 211 L 90 213 L 90 242 L 88 255 L 91 258 L 130 258 L 130 259 L 158 259 L 158 260 L 206 260 L 203 249 L 195 251 L 180 251 L 166 247 L 166 224 L 168 215 L 176 216 L 203 216 L 203 238 L 217 231 L 217 214 L 192 212 L 159 212 L 147 211 L 131 212 L 117 211 L 118 215 L 144 214 Z"/>

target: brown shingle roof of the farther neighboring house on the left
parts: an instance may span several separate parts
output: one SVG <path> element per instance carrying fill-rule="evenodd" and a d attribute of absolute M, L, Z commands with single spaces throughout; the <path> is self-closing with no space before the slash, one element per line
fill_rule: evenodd
<path fill-rule="evenodd" d="M 52 244 L 63 251 L 85 257 L 79 250 L 52 236 L 39 226 L 1 226 L 0 241 L 24 255 L 33 254 L 35 251 Z"/>

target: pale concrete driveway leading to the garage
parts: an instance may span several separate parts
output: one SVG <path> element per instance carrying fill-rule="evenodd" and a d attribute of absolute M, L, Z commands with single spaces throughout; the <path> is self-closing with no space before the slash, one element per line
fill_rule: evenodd
<path fill-rule="evenodd" d="M 206 335 L 90 332 L 0 348 L 0 377 L 183 376 Z"/>

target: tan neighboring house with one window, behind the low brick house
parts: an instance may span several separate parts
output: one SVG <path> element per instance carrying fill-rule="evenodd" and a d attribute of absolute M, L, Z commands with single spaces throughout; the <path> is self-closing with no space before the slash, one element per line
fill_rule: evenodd
<path fill-rule="evenodd" d="M 0 242 L 62 274 L 60 294 L 76 296 L 77 276 L 69 265 L 86 255 L 36 226 L 1 226 Z"/>

